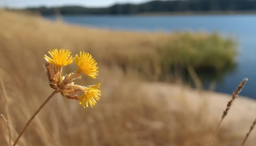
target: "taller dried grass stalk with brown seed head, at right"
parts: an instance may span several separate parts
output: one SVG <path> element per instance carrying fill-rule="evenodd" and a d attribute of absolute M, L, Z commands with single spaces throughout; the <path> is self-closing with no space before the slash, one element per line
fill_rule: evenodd
<path fill-rule="evenodd" d="M 225 109 L 225 111 L 223 112 L 223 115 L 221 117 L 221 120 L 220 120 L 220 123 L 218 124 L 218 127 L 216 128 L 216 131 L 211 139 L 211 142 L 209 144 L 209 146 L 211 146 L 214 138 L 216 137 L 216 134 L 218 133 L 219 131 L 219 128 L 220 128 L 220 124 L 222 122 L 222 120 L 226 117 L 229 109 L 231 108 L 231 105 L 233 104 L 234 100 L 236 99 L 236 97 L 238 97 L 239 93 L 242 91 L 242 88 L 245 86 L 245 83 L 247 82 L 247 78 L 245 78 L 242 82 L 240 82 L 240 84 L 237 86 L 236 90 L 234 90 L 233 94 L 232 94 L 232 99 L 228 102 L 227 104 L 227 108 Z"/>

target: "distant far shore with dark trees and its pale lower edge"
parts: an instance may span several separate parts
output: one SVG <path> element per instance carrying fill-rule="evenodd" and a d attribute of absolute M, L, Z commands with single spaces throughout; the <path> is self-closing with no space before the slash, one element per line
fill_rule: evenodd
<path fill-rule="evenodd" d="M 237 15 L 256 14 L 256 0 L 147 0 L 139 4 L 123 3 L 108 7 L 27 7 L 42 15 Z"/>

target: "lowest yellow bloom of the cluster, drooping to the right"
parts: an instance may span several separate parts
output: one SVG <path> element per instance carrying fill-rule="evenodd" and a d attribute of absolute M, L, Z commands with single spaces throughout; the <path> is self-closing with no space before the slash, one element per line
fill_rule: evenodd
<path fill-rule="evenodd" d="M 84 91 L 83 95 L 80 97 L 80 102 L 79 104 L 81 106 L 88 107 L 88 102 L 90 104 L 90 106 L 94 106 L 100 99 L 101 96 L 101 91 L 98 89 L 99 85 L 101 83 L 98 83 L 96 85 L 93 85 L 91 87 L 87 87 L 87 90 Z"/>

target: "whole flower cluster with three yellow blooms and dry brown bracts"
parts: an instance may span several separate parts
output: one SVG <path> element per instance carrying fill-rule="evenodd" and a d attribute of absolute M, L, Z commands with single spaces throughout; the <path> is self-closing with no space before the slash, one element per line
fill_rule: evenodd
<path fill-rule="evenodd" d="M 101 96 L 101 91 L 99 90 L 100 83 L 92 86 L 74 84 L 74 80 L 81 79 L 82 72 L 92 78 L 96 78 L 95 75 L 98 75 L 97 62 L 95 62 L 92 56 L 89 53 L 82 53 L 80 51 L 80 56 L 76 55 L 75 58 L 79 69 L 74 73 L 63 75 L 62 67 L 73 62 L 72 56 L 70 56 L 71 52 L 65 49 L 59 51 L 54 49 L 48 53 L 52 58 L 45 55 L 45 71 L 47 72 L 50 87 L 68 99 L 79 100 L 79 104 L 84 108 L 85 106 L 88 107 L 88 103 L 91 107 L 94 106 Z M 51 71 L 50 63 L 53 64 L 53 71 Z M 80 96 L 81 92 L 83 92 L 83 95 Z"/>

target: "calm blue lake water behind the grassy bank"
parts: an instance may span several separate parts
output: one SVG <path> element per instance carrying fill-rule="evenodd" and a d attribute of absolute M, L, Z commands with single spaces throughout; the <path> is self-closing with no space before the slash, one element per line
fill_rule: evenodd
<path fill-rule="evenodd" d="M 53 16 L 46 16 L 54 19 Z M 240 93 L 256 99 L 256 15 L 191 16 L 63 16 L 63 20 L 86 27 L 128 31 L 218 31 L 239 40 L 237 68 L 217 82 L 216 91 L 231 94 L 244 77 L 249 78 Z"/>

